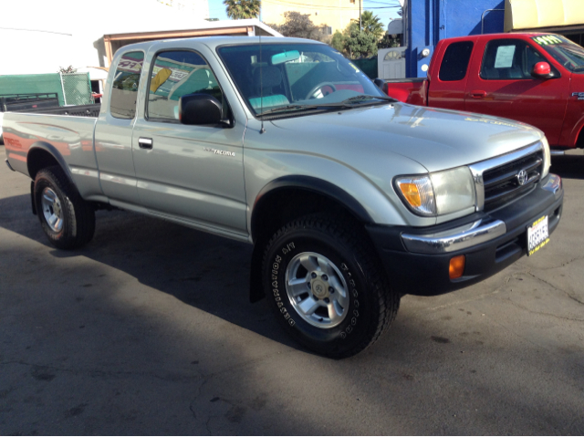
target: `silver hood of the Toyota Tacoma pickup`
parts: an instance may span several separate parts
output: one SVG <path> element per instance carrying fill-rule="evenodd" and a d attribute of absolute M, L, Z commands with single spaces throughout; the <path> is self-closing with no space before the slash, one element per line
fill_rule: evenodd
<path fill-rule="evenodd" d="M 515 151 L 541 140 L 541 130 L 527 124 L 448 109 L 393 103 L 339 110 L 306 117 L 272 120 L 315 152 L 332 143 L 340 154 L 359 147 L 382 159 L 388 151 L 442 171 Z M 342 157 L 339 157 L 342 159 Z"/>

